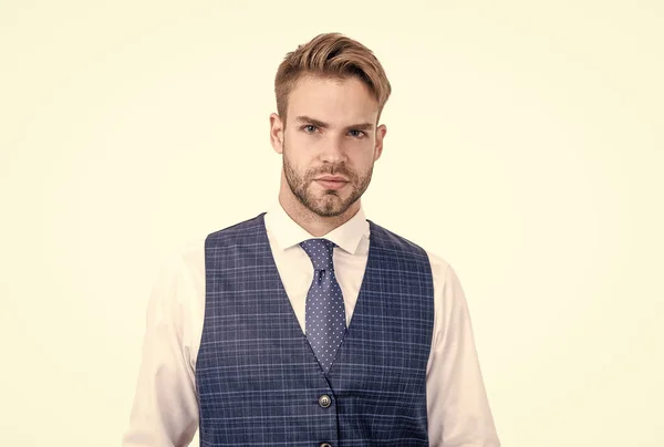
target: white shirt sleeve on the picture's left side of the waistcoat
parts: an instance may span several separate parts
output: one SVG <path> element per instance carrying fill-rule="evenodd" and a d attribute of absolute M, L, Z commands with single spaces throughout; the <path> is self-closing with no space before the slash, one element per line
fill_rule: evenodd
<path fill-rule="evenodd" d="M 188 446 L 198 429 L 189 346 L 195 293 L 181 256 L 162 264 L 147 306 L 142 362 L 123 447 Z"/>

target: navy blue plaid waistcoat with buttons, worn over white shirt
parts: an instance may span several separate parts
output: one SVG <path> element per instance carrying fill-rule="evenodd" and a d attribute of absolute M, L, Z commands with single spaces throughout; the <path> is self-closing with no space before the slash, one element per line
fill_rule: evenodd
<path fill-rule="evenodd" d="M 325 376 L 286 294 L 263 216 L 205 242 L 200 445 L 428 446 L 426 252 L 369 221 L 362 288 Z"/>

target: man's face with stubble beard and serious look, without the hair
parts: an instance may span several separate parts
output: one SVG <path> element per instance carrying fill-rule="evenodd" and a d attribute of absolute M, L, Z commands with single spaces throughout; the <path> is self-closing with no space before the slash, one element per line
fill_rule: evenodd
<path fill-rule="evenodd" d="M 364 194 L 382 152 L 378 105 L 357 79 L 302 77 L 289 96 L 283 174 L 309 210 L 344 214 Z"/>

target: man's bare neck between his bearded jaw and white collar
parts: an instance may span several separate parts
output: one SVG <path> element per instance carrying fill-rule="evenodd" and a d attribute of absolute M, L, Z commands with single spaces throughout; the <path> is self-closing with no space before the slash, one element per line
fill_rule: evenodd
<path fill-rule="evenodd" d="M 305 229 L 311 236 L 320 238 L 333 229 L 341 227 L 357 214 L 360 210 L 360 199 L 355 201 L 342 215 L 333 217 L 322 217 L 307 208 L 293 195 L 288 185 L 282 185 L 279 191 L 279 204 L 287 215 L 295 224 Z"/>

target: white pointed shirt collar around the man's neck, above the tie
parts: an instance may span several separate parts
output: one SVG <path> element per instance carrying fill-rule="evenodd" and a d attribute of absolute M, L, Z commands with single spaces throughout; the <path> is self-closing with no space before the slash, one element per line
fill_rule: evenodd
<path fill-rule="evenodd" d="M 314 238 L 314 236 L 310 235 L 309 231 L 291 219 L 279 202 L 279 199 L 274 200 L 268 209 L 264 221 L 266 229 L 270 233 L 271 239 L 277 242 L 277 246 L 281 250 L 287 250 L 307 239 Z M 360 210 L 347 222 L 322 236 L 322 238 L 334 242 L 344 251 L 355 254 L 362 238 L 369 237 L 369 221 L 361 206 Z"/>

